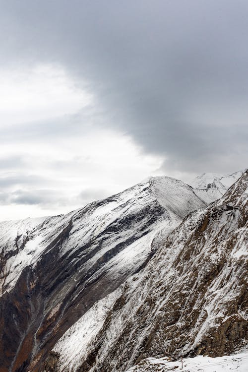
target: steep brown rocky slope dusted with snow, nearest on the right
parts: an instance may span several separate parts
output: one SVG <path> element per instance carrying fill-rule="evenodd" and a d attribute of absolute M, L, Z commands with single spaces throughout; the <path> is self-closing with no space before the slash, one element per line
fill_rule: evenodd
<path fill-rule="evenodd" d="M 218 357 L 247 345 L 248 171 L 158 246 L 64 333 L 44 369 L 123 372 L 150 356 Z"/>

